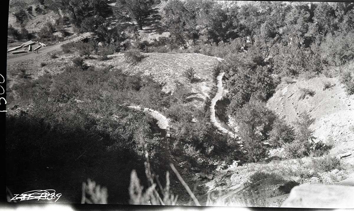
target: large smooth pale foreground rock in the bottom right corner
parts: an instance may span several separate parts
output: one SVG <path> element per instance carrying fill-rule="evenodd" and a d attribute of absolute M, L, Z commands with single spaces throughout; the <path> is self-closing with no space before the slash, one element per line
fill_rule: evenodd
<path fill-rule="evenodd" d="M 291 190 L 281 207 L 354 208 L 353 193 L 351 186 L 302 184 Z"/>

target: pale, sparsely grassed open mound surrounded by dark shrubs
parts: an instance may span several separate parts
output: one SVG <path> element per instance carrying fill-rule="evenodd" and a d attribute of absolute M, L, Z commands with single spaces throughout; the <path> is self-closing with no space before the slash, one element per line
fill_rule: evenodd
<path fill-rule="evenodd" d="M 195 100 L 198 105 L 204 104 L 213 87 L 213 72 L 218 62 L 217 58 L 200 54 L 165 54 L 165 53 L 143 53 L 145 58 L 136 65 L 127 64 L 124 54 L 113 55 L 108 61 L 86 60 L 87 64 L 95 66 L 120 67 L 130 74 L 143 73 L 151 74 L 156 81 L 164 84 L 163 91 L 173 92 L 176 81 L 184 84 L 190 90 L 188 99 Z M 196 74 L 202 78 L 199 83 L 189 83 L 182 76 L 183 71 L 194 68 Z"/>

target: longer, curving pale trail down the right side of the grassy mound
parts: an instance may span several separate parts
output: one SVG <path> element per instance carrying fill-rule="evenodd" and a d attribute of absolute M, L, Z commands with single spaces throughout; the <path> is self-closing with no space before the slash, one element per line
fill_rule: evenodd
<path fill-rule="evenodd" d="M 238 138 L 236 134 L 234 134 L 232 131 L 229 131 L 228 129 L 222 127 L 222 125 L 216 121 L 216 116 L 215 116 L 215 105 L 218 100 L 220 100 L 223 96 L 223 86 L 222 86 L 222 77 L 224 76 L 225 73 L 220 73 L 219 76 L 217 77 L 217 92 L 215 97 L 211 100 L 211 105 L 210 105 L 210 122 L 221 132 L 227 133 L 230 135 L 230 137 Z"/>

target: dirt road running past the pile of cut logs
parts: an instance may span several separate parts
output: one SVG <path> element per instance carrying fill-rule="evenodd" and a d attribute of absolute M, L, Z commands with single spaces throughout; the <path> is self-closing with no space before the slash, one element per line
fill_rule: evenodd
<path fill-rule="evenodd" d="M 62 46 L 62 44 L 66 44 L 66 43 L 73 42 L 73 41 L 78 41 L 78 40 L 82 39 L 83 37 L 87 37 L 87 36 L 90 36 L 90 35 L 91 35 L 90 32 L 86 32 L 84 34 L 81 34 L 81 35 L 79 35 L 77 37 L 72 38 L 71 40 L 66 40 L 66 41 L 58 43 L 58 44 L 56 44 L 54 46 L 42 47 L 41 49 L 39 49 L 39 53 L 38 54 L 35 54 L 33 52 L 28 52 L 28 53 L 20 54 L 18 56 L 7 58 L 7 65 L 10 65 L 10 64 L 16 63 L 16 62 L 21 62 L 21 61 L 28 60 L 28 59 L 33 59 L 33 58 L 35 58 L 37 56 L 53 52 L 55 50 L 58 50 Z M 8 53 L 7 55 L 12 55 L 12 54 Z"/>

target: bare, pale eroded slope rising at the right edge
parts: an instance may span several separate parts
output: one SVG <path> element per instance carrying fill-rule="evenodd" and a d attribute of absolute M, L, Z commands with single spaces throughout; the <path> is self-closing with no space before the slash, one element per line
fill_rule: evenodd
<path fill-rule="evenodd" d="M 323 90 L 324 82 L 333 86 Z M 314 96 L 299 100 L 301 88 L 315 91 Z M 315 118 L 311 125 L 314 136 L 325 143 L 333 141 L 333 153 L 343 153 L 354 147 L 354 96 L 345 93 L 338 78 L 316 77 L 281 84 L 267 105 L 289 122 L 295 121 L 297 114 L 309 111 Z"/>

